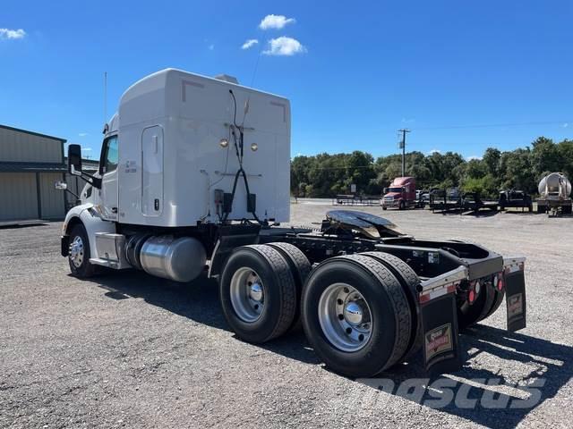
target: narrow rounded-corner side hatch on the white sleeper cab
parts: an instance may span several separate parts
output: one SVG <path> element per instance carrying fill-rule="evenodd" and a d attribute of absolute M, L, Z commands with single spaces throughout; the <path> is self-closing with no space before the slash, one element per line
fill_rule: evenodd
<path fill-rule="evenodd" d="M 141 135 L 141 213 L 163 211 L 163 129 L 146 128 Z"/>

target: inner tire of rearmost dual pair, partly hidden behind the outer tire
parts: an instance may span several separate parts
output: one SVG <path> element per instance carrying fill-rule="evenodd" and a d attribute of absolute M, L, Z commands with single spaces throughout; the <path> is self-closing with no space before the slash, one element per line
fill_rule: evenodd
<path fill-rule="evenodd" d="M 406 292 L 406 299 L 408 300 L 410 313 L 412 315 L 412 327 L 414 328 L 410 333 L 410 340 L 408 341 L 406 353 L 399 359 L 406 360 L 408 357 L 413 356 L 417 351 L 419 351 L 422 348 L 423 343 L 422 318 L 418 313 L 419 306 L 417 287 L 420 284 L 420 278 L 410 265 L 407 265 L 402 259 L 395 257 L 394 255 L 390 255 L 389 253 L 364 252 L 360 255 L 372 257 L 373 259 L 381 262 L 382 265 L 394 274 L 398 279 L 398 282 L 402 285 L 402 289 Z"/>

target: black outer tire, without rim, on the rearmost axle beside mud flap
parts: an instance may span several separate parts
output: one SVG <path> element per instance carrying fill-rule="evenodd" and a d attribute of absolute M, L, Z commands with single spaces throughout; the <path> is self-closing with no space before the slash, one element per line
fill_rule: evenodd
<path fill-rule="evenodd" d="M 335 283 L 358 290 L 372 313 L 370 339 L 361 349 L 347 352 L 334 346 L 321 328 L 319 302 Z M 412 315 L 406 294 L 388 268 L 372 257 L 332 257 L 312 270 L 301 301 L 304 332 L 314 351 L 329 368 L 352 377 L 368 377 L 394 366 L 408 347 Z"/>

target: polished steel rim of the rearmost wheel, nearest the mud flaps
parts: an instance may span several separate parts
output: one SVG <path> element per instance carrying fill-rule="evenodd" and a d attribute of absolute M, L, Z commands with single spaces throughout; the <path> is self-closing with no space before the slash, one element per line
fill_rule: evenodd
<path fill-rule="evenodd" d="M 319 299 L 319 322 L 337 349 L 355 352 L 372 337 L 372 312 L 362 293 L 346 283 L 331 284 Z"/>

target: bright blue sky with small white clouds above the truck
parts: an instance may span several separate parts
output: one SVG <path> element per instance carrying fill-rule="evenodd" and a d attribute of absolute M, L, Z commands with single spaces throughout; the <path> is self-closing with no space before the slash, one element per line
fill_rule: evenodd
<path fill-rule="evenodd" d="M 111 115 L 175 67 L 288 97 L 293 156 L 388 155 L 404 127 L 408 149 L 466 157 L 573 138 L 570 1 L 272 3 L 4 0 L 0 123 L 95 158 L 104 71 Z"/>

